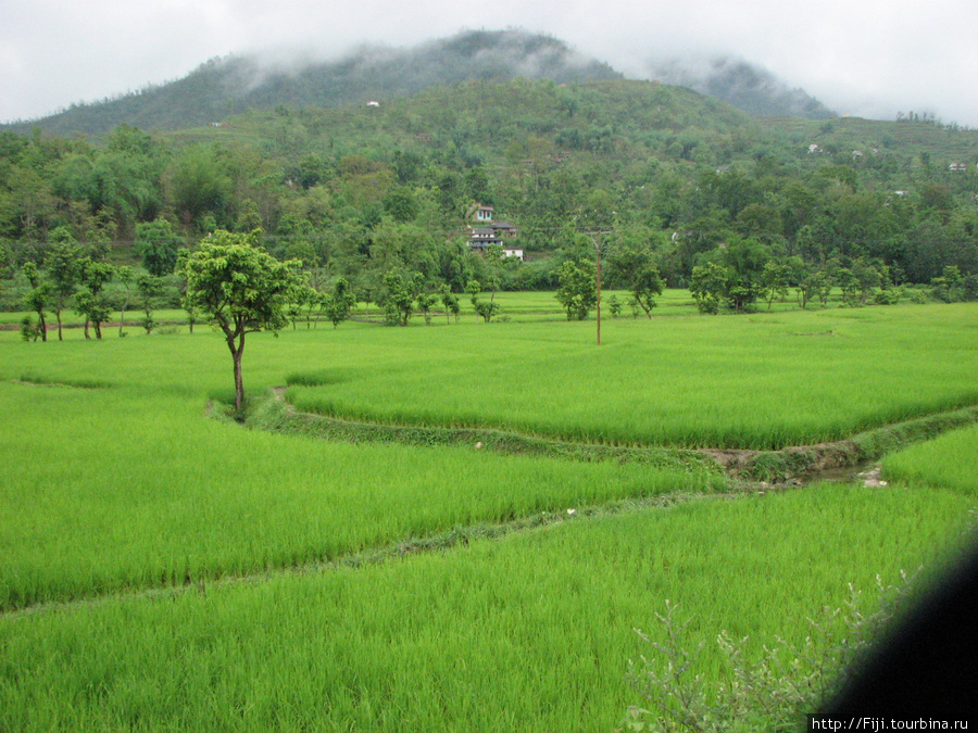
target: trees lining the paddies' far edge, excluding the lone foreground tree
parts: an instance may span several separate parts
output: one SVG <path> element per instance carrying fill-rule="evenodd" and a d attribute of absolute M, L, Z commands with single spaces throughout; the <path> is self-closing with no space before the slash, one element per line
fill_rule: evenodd
<path fill-rule="evenodd" d="M 212 238 L 218 233 L 234 236 L 221 231 Z M 250 247 L 260 247 L 264 240 L 260 229 L 249 232 L 247 238 Z M 22 268 L 26 280 L 23 303 L 37 318 L 36 323 L 32 318 L 24 320 L 24 337 L 47 340 L 48 313 L 52 313 L 59 339 L 63 338 L 62 313 L 66 308 L 83 315 L 86 337 L 91 327 L 97 339 L 102 338 L 102 324 L 110 313 L 118 309 L 122 334 L 134 296 L 143 312 L 139 323 L 149 333 L 156 326 L 154 304 L 167 289 L 175 290 L 176 303 L 187 311 L 192 332 L 199 314 L 186 298 L 187 281 L 181 273 L 190 251 L 180 247 L 183 241 L 165 220 L 140 225 L 137 251 L 145 270 L 137 270 L 108 263 L 104 248 L 83 245 L 66 230 L 55 232 L 55 243 L 41 265 L 28 261 Z M 627 290 L 627 304 L 632 311 L 651 318 L 655 299 L 666 287 L 660 270 L 662 253 L 648 244 L 613 239 L 604 247 L 603 258 L 605 287 Z M 488 323 L 499 313 L 496 292 L 503 276 L 511 271 L 513 261 L 504 257 L 499 248 L 491 248 L 477 260 L 485 277 L 480 281 L 469 276 L 463 292 L 468 294 L 475 313 Z M 303 317 L 308 324 L 326 317 L 336 327 L 350 317 L 359 301 L 376 303 L 385 314 L 385 321 L 399 326 L 406 326 L 415 313 L 423 314 L 430 323 L 432 312 L 439 307 L 451 321 L 452 315 L 457 319 L 461 309 L 461 293 L 454 292 L 451 282 L 402 266 L 388 269 L 376 287 L 364 289 L 344 276 L 324 277 L 318 268 L 304 266 L 300 260 L 289 262 L 302 281 L 301 287 L 289 291 L 287 315 L 293 325 Z M 555 298 L 567 318 L 587 318 L 598 301 L 594 261 L 578 248 L 576 256 L 567 254 L 554 269 Z M 109 294 L 110 283 L 115 285 L 114 298 Z M 770 245 L 753 238 L 731 238 L 723 247 L 698 257 L 689 281 L 699 309 L 713 314 L 722 307 L 734 312 L 754 309 L 758 302 L 766 303 L 769 309 L 775 300 L 786 300 L 792 289 L 802 308 L 815 302 L 827 305 L 833 289 L 841 292 L 842 303 L 851 306 L 894 303 L 901 296 L 890 268 L 879 260 L 833 257 L 818 266 L 800 256 L 777 257 Z M 489 292 L 488 300 L 482 295 L 485 291 Z M 978 275 L 963 274 L 958 267 L 948 265 L 932 279 L 930 293 L 946 302 L 978 300 Z M 616 306 L 620 307 L 617 302 L 611 303 L 613 309 Z"/>

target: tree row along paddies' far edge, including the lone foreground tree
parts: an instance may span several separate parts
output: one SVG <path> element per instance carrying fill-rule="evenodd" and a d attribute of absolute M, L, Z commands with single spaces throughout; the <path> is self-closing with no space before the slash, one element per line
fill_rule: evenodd
<path fill-rule="evenodd" d="M 165 232 L 164 232 L 165 233 Z M 235 375 L 235 409 L 238 415 L 244 407 L 242 355 L 248 333 L 265 329 L 283 328 L 288 321 L 301 317 L 305 309 L 309 319 L 317 309 L 333 321 L 334 327 L 346 320 L 358 302 L 349 281 L 337 278 L 331 291 L 323 292 L 312 287 L 308 273 L 302 271 L 299 260 L 279 261 L 262 245 L 262 231 L 234 233 L 218 230 L 204 238 L 195 251 L 180 249 L 173 257 L 176 276 L 181 283 L 181 305 L 193 323 L 200 317 L 214 325 L 224 336 L 230 352 Z M 46 311 L 52 309 L 58 321 L 59 339 L 63 338 L 62 312 L 71 300 L 77 312 L 85 316 L 86 338 L 89 325 L 96 338 L 102 338 L 101 325 L 109 318 L 109 304 L 104 287 L 117 278 L 126 288 L 126 300 L 120 314 L 120 334 L 123 334 L 125 308 L 128 305 L 129 285 L 134 280 L 131 267 L 114 267 L 103 258 L 103 252 L 82 245 L 67 236 L 46 257 L 43 270 L 34 262 L 24 265 L 24 276 L 30 289 L 25 302 L 38 316 L 37 325 L 25 319 L 25 339 L 40 337 L 47 340 Z M 160 255 L 159 248 L 147 247 L 145 256 L 151 261 Z M 612 273 L 627 281 L 629 302 L 651 317 L 655 296 L 663 291 L 664 282 L 654 264 L 651 250 L 623 248 L 613 250 L 607 258 Z M 715 257 L 693 269 L 690 291 L 702 312 L 717 313 L 720 304 L 735 311 L 753 306 L 761 298 L 773 301 L 787 296 L 793 285 L 799 304 L 805 307 L 810 300 L 826 303 L 833 285 L 842 289 L 843 301 L 862 305 L 870 298 L 876 302 L 893 302 L 892 286 L 885 265 L 864 260 L 851 263 L 833 262 L 830 268 L 813 270 L 798 258 L 788 263 L 772 260 L 766 248 L 755 240 L 735 240 L 723 248 Z M 491 252 L 497 266 L 502 261 Z M 162 260 L 170 262 L 166 253 Z M 599 261 L 600 263 L 600 261 Z M 847 266 L 848 265 L 848 266 Z M 165 269 L 165 268 L 164 268 Z M 600 282 L 598 268 L 590 260 L 566 261 L 559 271 L 560 288 L 555 296 L 567 312 L 568 319 L 585 319 L 598 303 Z M 154 321 L 152 299 L 162 290 L 162 276 L 151 271 L 135 278 L 136 290 L 143 303 L 146 316 L 142 325 L 147 333 Z M 494 302 L 498 278 L 489 282 L 490 298 L 484 298 L 484 286 L 477 280 L 467 283 L 466 292 L 475 312 L 487 323 L 498 313 Z M 978 300 L 978 276 L 963 276 L 954 266 L 948 266 L 942 276 L 932 282 L 935 294 L 942 300 Z M 889 294 L 888 294 L 889 293 Z M 415 311 L 430 319 L 432 307 L 440 301 L 446 316 L 451 320 L 460 312 L 459 298 L 448 283 L 442 282 L 437 292 L 426 288 L 421 273 L 408 275 L 392 269 L 384 278 L 384 290 L 376 302 L 384 308 L 386 323 L 406 326 Z M 615 304 L 612 304 L 613 312 Z"/>

